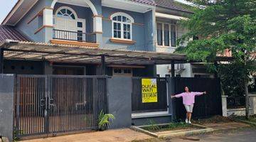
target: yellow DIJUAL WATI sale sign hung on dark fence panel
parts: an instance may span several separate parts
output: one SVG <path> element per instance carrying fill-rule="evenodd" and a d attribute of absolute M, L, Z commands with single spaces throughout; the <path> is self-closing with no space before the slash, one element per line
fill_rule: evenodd
<path fill-rule="evenodd" d="M 142 79 L 142 103 L 157 102 L 156 79 Z"/>

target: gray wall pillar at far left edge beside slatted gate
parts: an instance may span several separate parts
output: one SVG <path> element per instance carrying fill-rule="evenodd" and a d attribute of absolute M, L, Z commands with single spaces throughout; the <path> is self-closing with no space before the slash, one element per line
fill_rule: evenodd
<path fill-rule="evenodd" d="M 14 75 L 0 75 L 0 136 L 13 140 Z"/>

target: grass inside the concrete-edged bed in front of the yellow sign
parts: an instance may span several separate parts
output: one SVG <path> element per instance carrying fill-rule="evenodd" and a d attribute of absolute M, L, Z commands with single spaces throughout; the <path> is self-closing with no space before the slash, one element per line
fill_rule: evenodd
<path fill-rule="evenodd" d="M 186 124 L 183 122 L 179 122 L 179 123 L 170 123 L 170 124 L 164 124 L 164 125 L 150 124 L 149 126 L 142 126 L 141 128 L 151 132 L 160 132 L 160 131 L 172 131 L 172 130 L 183 130 L 183 129 L 197 129 L 198 127 L 190 124 Z"/>

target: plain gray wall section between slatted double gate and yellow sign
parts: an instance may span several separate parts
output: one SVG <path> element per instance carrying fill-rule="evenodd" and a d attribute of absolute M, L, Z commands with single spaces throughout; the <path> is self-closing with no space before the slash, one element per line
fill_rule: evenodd
<path fill-rule="evenodd" d="M 108 79 L 108 110 L 115 116 L 110 129 L 129 127 L 132 124 L 132 78 Z"/>

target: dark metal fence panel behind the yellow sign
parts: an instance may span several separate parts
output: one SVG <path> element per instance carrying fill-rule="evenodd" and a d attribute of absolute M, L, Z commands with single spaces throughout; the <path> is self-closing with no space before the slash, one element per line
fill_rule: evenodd
<path fill-rule="evenodd" d="M 167 111 L 166 78 L 156 78 L 157 102 L 142 103 L 142 77 L 132 78 L 132 112 Z"/>

